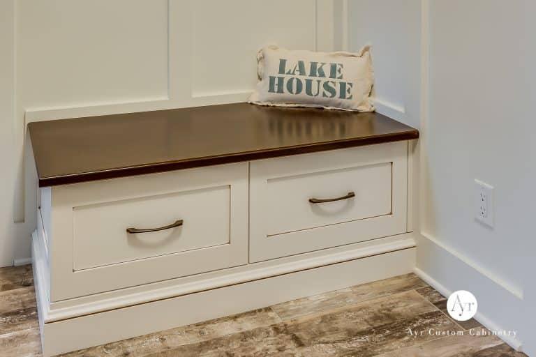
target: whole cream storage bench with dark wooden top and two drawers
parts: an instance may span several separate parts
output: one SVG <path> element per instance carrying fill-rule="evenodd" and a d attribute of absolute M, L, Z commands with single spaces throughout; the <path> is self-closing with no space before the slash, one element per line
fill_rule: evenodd
<path fill-rule="evenodd" d="M 52 356 L 408 273 L 417 130 L 245 103 L 29 124 Z"/>

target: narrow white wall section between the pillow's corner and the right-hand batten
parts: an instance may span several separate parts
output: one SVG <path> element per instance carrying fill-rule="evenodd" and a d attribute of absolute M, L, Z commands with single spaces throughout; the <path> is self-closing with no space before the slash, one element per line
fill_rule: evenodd
<path fill-rule="evenodd" d="M 420 128 L 421 1 L 349 0 L 348 50 L 372 45 L 379 111 Z"/>

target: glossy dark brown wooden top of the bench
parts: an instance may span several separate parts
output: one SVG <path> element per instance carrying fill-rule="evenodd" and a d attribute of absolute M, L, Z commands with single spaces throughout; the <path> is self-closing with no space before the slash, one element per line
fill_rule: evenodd
<path fill-rule="evenodd" d="M 417 139 L 378 113 L 211 105 L 29 123 L 39 185 Z"/>

